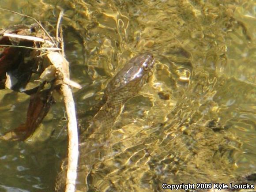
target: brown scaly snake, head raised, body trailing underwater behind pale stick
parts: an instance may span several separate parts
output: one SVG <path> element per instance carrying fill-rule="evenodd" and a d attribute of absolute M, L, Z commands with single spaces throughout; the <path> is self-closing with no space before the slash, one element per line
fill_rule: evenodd
<path fill-rule="evenodd" d="M 140 53 L 129 60 L 107 84 L 103 98 L 99 103 L 98 112 L 90 121 L 90 126 L 79 138 L 78 169 L 80 174 L 78 173 L 78 175 L 81 177 L 89 174 L 89 169 L 84 170 L 83 167 L 85 164 L 83 162 L 84 155 L 90 155 L 91 150 L 95 151 L 105 145 L 107 133 L 122 112 L 124 103 L 136 96 L 152 75 L 154 61 L 154 56 L 151 53 Z M 93 165 L 94 162 L 98 161 L 100 155 L 100 152 L 94 153 L 86 165 Z M 62 171 L 56 179 L 56 191 L 64 191 L 66 163 L 65 160 Z"/>

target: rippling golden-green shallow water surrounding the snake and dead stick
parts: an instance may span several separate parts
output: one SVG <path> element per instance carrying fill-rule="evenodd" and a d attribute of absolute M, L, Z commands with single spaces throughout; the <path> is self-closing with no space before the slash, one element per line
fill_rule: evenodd
<path fill-rule="evenodd" d="M 162 182 L 229 182 L 256 172 L 255 1 L 1 0 L 0 7 L 53 25 L 64 8 L 71 76 L 83 85 L 74 90 L 81 128 L 123 64 L 140 52 L 154 54 L 150 82 L 106 130 L 92 187 L 161 190 Z M 2 28 L 31 23 L 0 13 Z M 27 105 L 26 95 L 0 91 L 1 134 L 25 120 Z M 207 127 L 212 120 L 220 126 Z M 36 136 L 0 142 L 1 190 L 53 191 L 66 153 L 65 123 L 56 102 Z"/>

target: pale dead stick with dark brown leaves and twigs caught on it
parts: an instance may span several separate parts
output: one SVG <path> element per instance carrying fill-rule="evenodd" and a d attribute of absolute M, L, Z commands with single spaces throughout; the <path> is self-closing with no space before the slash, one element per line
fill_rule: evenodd
<path fill-rule="evenodd" d="M 9 11 L 0 8 L 0 11 Z M 56 37 L 52 37 L 36 19 L 35 23 L 9 26 L 0 30 L 0 89 L 11 89 L 30 95 L 25 123 L 0 139 L 23 141 L 41 124 L 54 103 L 53 90 L 64 98 L 68 119 L 68 171 L 66 192 L 75 191 L 78 159 L 78 133 L 72 87 L 81 88 L 69 79 L 69 63 L 65 59 L 60 11 Z M 30 86 L 28 86 L 30 84 Z"/>

